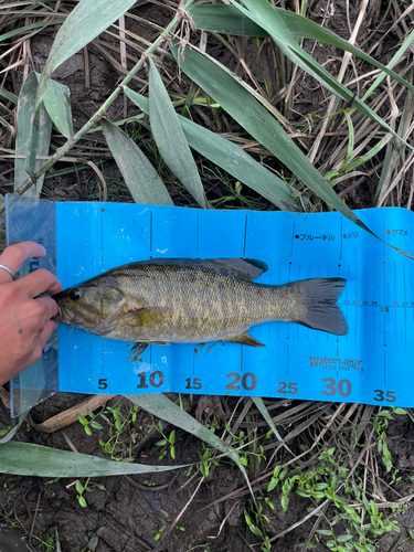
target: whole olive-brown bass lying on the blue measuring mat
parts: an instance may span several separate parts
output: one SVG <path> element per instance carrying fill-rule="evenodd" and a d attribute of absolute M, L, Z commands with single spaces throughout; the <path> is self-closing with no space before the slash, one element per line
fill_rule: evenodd
<path fill-rule="evenodd" d="M 252 282 L 268 269 L 252 258 L 153 258 L 112 268 L 53 299 L 56 322 L 139 344 L 226 341 L 265 347 L 247 333 L 269 321 L 348 332 L 337 305 L 347 280 Z"/>

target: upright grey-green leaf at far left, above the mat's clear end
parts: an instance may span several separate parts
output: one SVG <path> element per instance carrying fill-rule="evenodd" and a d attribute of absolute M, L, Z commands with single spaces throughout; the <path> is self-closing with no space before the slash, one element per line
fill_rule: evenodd
<path fill-rule="evenodd" d="M 18 102 L 18 132 L 15 136 L 15 155 L 24 156 L 14 162 L 14 191 L 26 180 L 26 160 L 31 173 L 36 171 L 44 160 L 35 160 L 36 156 L 47 156 L 52 134 L 52 120 L 44 105 L 34 117 L 34 100 L 38 78 L 34 72 L 29 73 Z M 43 187 L 44 176 L 32 185 L 24 195 L 39 198 Z"/>

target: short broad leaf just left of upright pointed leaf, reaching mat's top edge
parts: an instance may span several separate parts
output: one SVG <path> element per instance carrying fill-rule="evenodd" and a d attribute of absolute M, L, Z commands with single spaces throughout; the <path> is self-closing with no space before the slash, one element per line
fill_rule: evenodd
<path fill-rule="evenodd" d="M 102 128 L 134 201 L 173 205 L 162 180 L 135 141 L 108 120 L 102 120 Z"/>

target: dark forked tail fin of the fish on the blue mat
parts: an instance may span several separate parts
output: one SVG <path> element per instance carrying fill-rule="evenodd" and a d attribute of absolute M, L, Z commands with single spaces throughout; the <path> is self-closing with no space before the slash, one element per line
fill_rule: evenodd
<path fill-rule="evenodd" d="M 310 278 L 291 284 L 299 286 L 305 299 L 305 308 L 298 309 L 296 322 L 337 336 L 348 333 L 347 319 L 337 305 L 347 285 L 344 278 Z"/>

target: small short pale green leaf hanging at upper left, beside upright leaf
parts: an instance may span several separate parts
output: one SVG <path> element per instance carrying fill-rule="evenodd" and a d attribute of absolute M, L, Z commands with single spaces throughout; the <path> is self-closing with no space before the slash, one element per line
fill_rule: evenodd
<path fill-rule="evenodd" d="M 41 75 L 36 73 L 38 82 L 40 76 Z M 67 86 L 52 78 L 47 81 L 47 88 L 43 96 L 43 103 L 55 127 L 66 138 L 73 136 L 70 96 L 71 91 Z"/>

